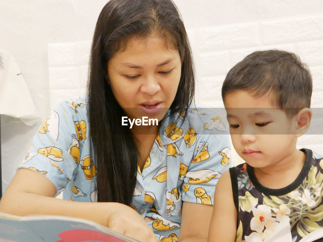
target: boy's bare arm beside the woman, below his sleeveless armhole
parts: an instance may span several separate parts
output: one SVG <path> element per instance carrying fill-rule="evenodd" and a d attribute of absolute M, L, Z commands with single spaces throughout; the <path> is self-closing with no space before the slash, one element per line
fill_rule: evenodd
<path fill-rule="evenodd" d="M 234 242 L 237 231 L 237 210 L 234 206 L 229 171 L 216 184 L 208 242 Z"/>

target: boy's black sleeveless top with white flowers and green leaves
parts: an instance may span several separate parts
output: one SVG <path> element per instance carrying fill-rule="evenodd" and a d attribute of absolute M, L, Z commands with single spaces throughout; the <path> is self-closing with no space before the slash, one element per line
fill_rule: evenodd
<path fill-rule="evenodd" d="M 311 150 L 301 151 L 306 158 L 300 174 L 281 189 L 262 186 L 247 163 L 230 168 L 238 212 L 236 242 L 298 242 L 322 230 L 323 158 Z"/>

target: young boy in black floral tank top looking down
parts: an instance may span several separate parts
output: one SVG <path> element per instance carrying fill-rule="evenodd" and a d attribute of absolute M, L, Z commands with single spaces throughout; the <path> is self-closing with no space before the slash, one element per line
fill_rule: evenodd
<path fill-rule="evenodd" d="M 311 94 L 307 67 L 285 51 L 252 53 L 227 74 L 222 98 L 246 163 L 216 185 L 209 242 L 298 242 L 319 229 L 323 237 L 322 156 L 296 149 Z"/>

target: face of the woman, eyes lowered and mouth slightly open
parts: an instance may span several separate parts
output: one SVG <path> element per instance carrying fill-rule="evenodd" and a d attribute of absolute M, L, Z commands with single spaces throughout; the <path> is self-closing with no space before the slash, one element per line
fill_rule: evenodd
<path fill-rule="evenodd" d="M 128 118 L 160 121 L 175 98 L 181 67 L 178 50 L 167 48 L 165 38 L 132 38 L 109 60 L 109 84 Z"/>

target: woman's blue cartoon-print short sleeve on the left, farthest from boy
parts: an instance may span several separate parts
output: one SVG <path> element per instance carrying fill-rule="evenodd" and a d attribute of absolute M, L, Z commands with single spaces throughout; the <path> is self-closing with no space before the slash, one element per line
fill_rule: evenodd
<path fill-rule="evenodd" d="M 44 175 L 57 194 L 65 190 L 77 175 L 80 154 L 89 139 L 86 114 L 84 99 L 61 102 L 42 123 L 18 169 Z"/>

